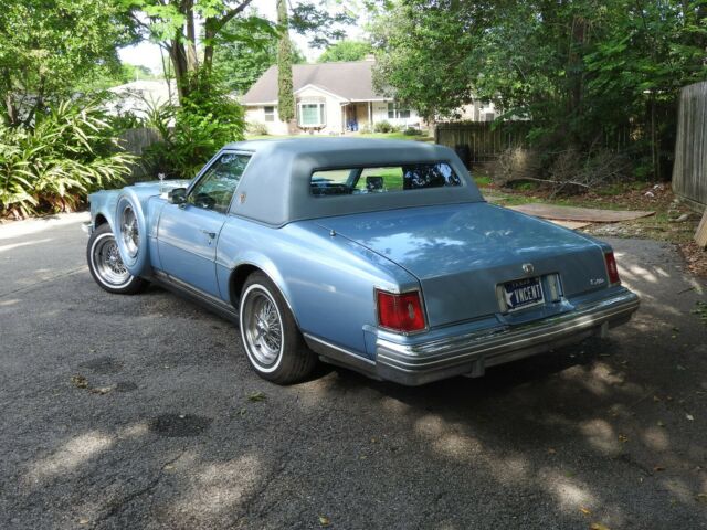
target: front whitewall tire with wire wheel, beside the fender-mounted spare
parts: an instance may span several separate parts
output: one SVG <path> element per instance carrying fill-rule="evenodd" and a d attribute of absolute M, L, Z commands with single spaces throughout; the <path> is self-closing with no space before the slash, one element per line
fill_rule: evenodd
<path fill-rule="evenodd" d="M 133 276 L 126 268 L 110 225 L 102 224 L 91 234 L 86 261 L 93 279 L 104 290 L 117 295 L 134 295 L 145 289 L 148 282 Z"/>

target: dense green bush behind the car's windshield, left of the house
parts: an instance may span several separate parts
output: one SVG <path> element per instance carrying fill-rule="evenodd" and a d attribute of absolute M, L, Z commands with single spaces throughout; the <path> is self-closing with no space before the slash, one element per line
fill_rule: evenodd
<path fill-rule="evenodd" d="M 168 178 L 191 179 L 225 144 L 243 139 L 243 107 L 219 80 L 201 75 L 180 106 L 167 104 L 148 112 L 146 125 L 156 128 L 162 141 L 145 150 L 145 163 Z"/>

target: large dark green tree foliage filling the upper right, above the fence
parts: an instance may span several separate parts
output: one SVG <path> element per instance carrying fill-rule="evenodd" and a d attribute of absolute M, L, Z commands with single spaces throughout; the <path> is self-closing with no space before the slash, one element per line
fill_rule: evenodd
<path fill-rule="evenodd" d="M 372 29 L 376 83 L 428 116 L 492 100 L 550 144 L 643 124 L 657 163 L 677 89 L 707 74 L 706 14 L 704 0 L 395 1 Z"/>

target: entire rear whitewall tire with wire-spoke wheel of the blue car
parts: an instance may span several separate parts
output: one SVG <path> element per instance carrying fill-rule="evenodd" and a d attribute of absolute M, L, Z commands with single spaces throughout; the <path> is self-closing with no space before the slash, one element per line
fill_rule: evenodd
<path fill-rule="evenodd" d="M 241 343 L 255 373 L 277 384 L 296 383 L 312 374 L 317 357 L 267 276 L 249 276 L 239 306 Z"/>

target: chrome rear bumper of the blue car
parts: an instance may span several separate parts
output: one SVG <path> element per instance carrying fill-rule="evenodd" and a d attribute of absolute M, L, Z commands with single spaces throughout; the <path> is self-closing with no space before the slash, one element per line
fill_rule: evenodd
<path fill-rule="evenodd" d="M 639 297 L 623 289 L 609 298 L 577 306 L 572 311 L 515 328 L 415 343 L 378 337 L 376 361 L 360 360 L 360 357 L 354 360 L 350 354 L 342 356 L 342 350 L 323 351 L 321 342 L 308 342 L 327 361 L 350 365 L 377 379 L 420 385 L 454 375 L 483 375 L 486 367 L 541 353 L 593 335 L 603 337 L 610 327 L 629 321 L 637 308 Z"/>

